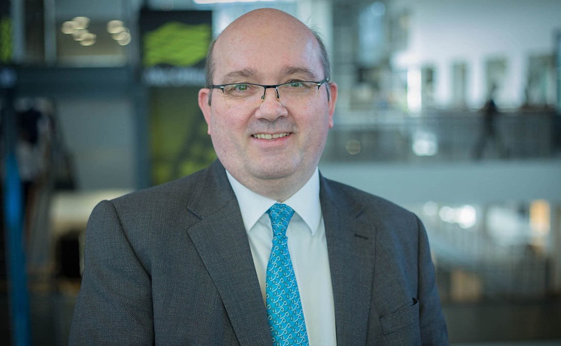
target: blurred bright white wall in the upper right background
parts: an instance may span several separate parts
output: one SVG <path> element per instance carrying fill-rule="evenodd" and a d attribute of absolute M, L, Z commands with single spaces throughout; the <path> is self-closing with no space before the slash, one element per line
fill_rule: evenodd
<path fill-rule="evenodd" d="M 522 104 L 529 56 L 552 54 L 553 35 L 561 30 L 559 0 L 392 0 L 389 8 L 411 15 L 407 49 L 393 57 L 393 66 L 434 66 L 435 102 L 443 106 L 452 101 L 452 64 L 465 61 L 466 101 L 479 107 L 487 96 L 485 61 L 493 57 L 508 61 L 498 103 Z"/>

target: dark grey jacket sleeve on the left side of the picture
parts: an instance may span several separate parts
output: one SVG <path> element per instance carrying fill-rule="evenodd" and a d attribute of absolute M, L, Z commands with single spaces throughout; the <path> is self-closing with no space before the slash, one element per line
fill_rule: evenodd
<path fill-rule="evenodd" d="M 84 275 L 69 345 L 154 343 L 149 271 L 127 238 L 116 208 L 100 202 L 86 228 Z"/>

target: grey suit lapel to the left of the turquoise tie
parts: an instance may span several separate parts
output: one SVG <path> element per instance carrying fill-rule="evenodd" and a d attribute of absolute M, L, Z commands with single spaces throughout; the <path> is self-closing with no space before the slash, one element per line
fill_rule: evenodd
<path fill-rule="evenodd" d="M 269 345 L 269 325 L 240 207 L 224 168 L 214 163 L 189 209 L 201 221 L 188 230 L 216 285 L 240 345 Z"/>

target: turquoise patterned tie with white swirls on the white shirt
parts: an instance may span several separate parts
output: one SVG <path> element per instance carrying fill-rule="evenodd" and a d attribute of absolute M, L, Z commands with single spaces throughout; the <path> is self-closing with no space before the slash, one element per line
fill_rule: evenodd
<path fill-rule="evenodd" d="M 275 346 L 308 345 L 300 292 L 288 253 L 286 229 L 294 210 L 275 204 L 267 210 L 273 225 L 273 248 L 265 284 L 269 326 Z"/>

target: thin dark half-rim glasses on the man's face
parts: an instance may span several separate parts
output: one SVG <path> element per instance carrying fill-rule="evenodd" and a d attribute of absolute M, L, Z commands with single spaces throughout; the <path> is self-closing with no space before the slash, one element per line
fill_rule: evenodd
<path fill-rule="evenodd" d="M 292 81 L 277 85 L 261 85 L 254 83 L 234 83 L 211 85 L 211 89 L 220 89 L 228 107 L 235 108 L 257 108 L 265 99 L 267 89 L 277 91 L 277 99 L 280 99 L 285 107 L 305 107 L 318 97 L 319 88 L 327 83 L 329 78 L 319 82 Z M 329 93 L 329 91 L 328 91 Z"/>

